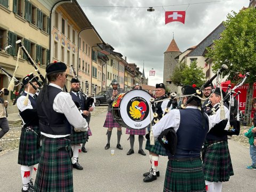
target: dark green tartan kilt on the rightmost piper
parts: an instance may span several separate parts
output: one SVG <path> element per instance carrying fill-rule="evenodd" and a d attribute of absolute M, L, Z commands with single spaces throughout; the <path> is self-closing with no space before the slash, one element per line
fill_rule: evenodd
<path fill-rule="evenodd" d="M 228 141 L 211 145 L 216 141 L 204 143 L 205 155 L 203 157 L 203 171 L 206 181 L 228 181 L 234 175 L 228 149 Z M 211 145 L 211 146 L 210 146 Z"/>

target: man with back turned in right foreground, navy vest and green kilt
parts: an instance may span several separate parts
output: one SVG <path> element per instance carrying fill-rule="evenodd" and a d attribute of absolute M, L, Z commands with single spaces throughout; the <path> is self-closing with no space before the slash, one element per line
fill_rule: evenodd
<path fill-rule="evenodd" d="M 196 88 L 190 85 L 182 87 L 183 95 L 194 93 Z M 189 98 L 184 97 L 182 103 L 185 104 Z M 153 126 L 155 139 L 169 128 L 174 129 L 177 135 L 176 151 L 166 150 L 169 161 L 163 191 L 205 191 L 200 155 L 211 124 L 207 115 L 198 107 L 202 107 L 201 99 L 195 97 L 188 103 L 186 109 L 171 110 Z M 168 140 L 172 142 L 172 139 Z"/>

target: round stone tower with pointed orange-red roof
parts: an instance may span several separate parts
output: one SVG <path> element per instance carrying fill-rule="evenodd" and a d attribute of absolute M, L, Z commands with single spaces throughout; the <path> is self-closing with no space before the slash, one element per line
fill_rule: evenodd
<path fill-rule="evenodd" d="M 178 87 L 174 85 L 171 80 L 170 76 L 173 73 L 173 69 L 175 66 L 178 65 L 178 61 L 175 60 L 175 57 L 177 57 L 180 54 L 179 47 L 177 46 L 174 38 L 172 39 L 169 47 L 164 52 L 164 84 L 166 89 L 168 89 L 170 92 L 178 92 Z"/>

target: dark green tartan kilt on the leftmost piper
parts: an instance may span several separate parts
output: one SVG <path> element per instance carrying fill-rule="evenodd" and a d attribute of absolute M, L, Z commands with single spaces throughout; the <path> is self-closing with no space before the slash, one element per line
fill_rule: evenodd
<path fill-rule="evenodd" d="M 18 154 L 18 164 L 20 165 L 35 165 L 40 159 L 40 130 L 38 126 L 30 126 L 33 131 L 22 128 L 20 134 L 20 145 Z M 37 133 L 37 134 L 36 134 Z"/>

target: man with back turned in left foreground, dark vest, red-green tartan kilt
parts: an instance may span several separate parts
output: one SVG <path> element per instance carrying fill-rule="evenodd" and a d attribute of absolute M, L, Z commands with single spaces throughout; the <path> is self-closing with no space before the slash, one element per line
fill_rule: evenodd
<path fill-rule="evenodd" d="M 35 191 L 73 191 L 70 147 L 70 124 L 87 131 L 88 124 L 69 93 L 62 91 L 67 66 L 63 62 L 46 67 L 49 85 L 37 98 L 37 114 L 41 131 L 42 153 L 35 181 Z"/>

